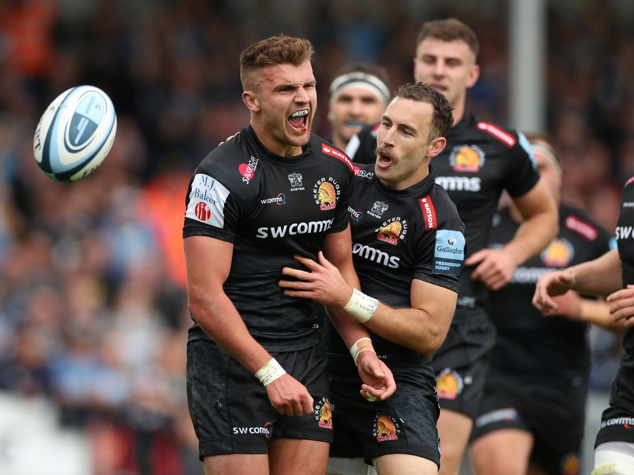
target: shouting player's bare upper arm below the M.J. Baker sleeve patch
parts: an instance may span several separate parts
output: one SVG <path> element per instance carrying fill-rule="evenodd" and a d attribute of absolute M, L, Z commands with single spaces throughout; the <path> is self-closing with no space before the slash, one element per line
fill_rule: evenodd
<path fill-rule="evenodd" d="M 183 239 L 187 291 L 191 301 L 210 300 L 224 293 L 223 284 L 229 276 L 233 244 L 209 236 L 189 236 Z"/>

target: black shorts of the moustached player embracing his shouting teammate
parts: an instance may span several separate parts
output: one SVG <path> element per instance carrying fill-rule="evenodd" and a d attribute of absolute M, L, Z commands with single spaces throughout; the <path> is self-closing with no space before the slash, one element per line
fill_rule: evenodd
<path fill-rule="evenodd" d="M 366 464 L 389 453 L 409 453 L 440 464 L 436 429 L 440 408 L 434 380 L 413 364 L 419 355 L 382 356 L 396 392 L 369 402 L 359 394 L 361 378 L 349 355 L 328 354 L 328 381 L 335 412 L 330 457 L 363 457 Z"/>

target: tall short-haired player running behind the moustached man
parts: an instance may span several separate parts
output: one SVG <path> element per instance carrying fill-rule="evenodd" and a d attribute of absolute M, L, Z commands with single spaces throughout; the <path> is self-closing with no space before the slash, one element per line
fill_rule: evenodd
<path fill-rule="evenodd" d="M 436 182 L 448 192 L 465 224 L 469 253 L 460 274 L 458 304 L 443 346 L 434 355 L 443 443 L 441 475 L 457 475 L 477 415 L 495 326 L 485 310 L 488 289 L 510 281 L 518 265 L 538 255 L 557 234 L 557 206 L 539 180 L 526 137 L 465 110 L 467 89 L 479 76 L 478 41 L 450 18 L 424 23 L 418 34 L 414 77 L 436 87 L 453 107 L 454 123 L 434 160 Z M 389 163 L 375 156 L 375 127 L 359 133 L 358 163 Z M 524 219 L 503 248 L 487 249 L 491 219 L 506 189 Z"/>

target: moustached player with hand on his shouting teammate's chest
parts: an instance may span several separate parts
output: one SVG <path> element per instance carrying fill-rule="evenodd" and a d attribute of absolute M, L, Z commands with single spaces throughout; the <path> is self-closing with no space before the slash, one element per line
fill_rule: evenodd
<path fill-rule="evenodd" d="M 430 160 L 443 149 L 451 124 L 447 99 L 420 82 L 401 87 L 387 107 L 377 153 L 389 161 L 358 170 L 349 208 L 363 293 L 346 284 L 321 254 L 319 263 L 297 257 L 311 272 L 282 271 L 303 281 L 280 281 L 286 295 L 343 308 L 363 322 L 372 338 L 357 341 L 350 351 L 376 352 L 398 386 L 383 401 L 372 402 L 363 391 L 361 398 L 352 384 L 348 348 L 327 324 L 328 378 L 337 409 L 328 474 L 366 475 L 373 473 L 370 465 L 380 475 L 438 471 L 440 408 L 431 355 L 455 310 L 465 238 Z"/>

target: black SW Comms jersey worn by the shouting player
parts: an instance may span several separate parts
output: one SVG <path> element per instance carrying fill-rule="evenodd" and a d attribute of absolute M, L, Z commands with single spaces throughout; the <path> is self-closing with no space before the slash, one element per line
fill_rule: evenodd
<path fill-rule="evenodd" d="M 294 254 L 317 260 L 326 234 L 346 229 L 353 189 L 352 162 L 315 135 L 301 155 L 283 157 L 264 148 L 249 125 L 198 165 L 183 237 L 233 243 L 224 293 L 267 350 L 318 343 L 314 302 L 285 296 L 278 281 L 283 267 L 308 270 Z M 208 338 L 191 327 L 190 340 Z"/>

